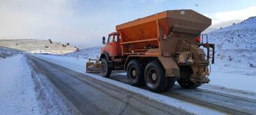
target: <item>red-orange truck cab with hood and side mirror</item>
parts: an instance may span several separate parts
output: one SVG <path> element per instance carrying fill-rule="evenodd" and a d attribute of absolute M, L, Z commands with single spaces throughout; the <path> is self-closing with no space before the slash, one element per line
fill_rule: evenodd
<path fill-rule="evenodd" d="M 101 54 L 106 52 L 109 57 L 121 56 L 121 45 L 120 45 L 120 36 L 117 32 L 108 34 L 108 39 L 102 38 L 102 43 L 105 45 L 102 47 Z"/>

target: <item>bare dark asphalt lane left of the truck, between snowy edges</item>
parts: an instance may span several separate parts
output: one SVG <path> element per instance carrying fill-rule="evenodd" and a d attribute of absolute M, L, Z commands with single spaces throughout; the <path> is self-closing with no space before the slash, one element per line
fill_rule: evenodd
<path fill-rule="evenodd" d="M 44 74 L 81 114 L 191 114 L 49 61 L 27 57 L 33 70 Z"/>

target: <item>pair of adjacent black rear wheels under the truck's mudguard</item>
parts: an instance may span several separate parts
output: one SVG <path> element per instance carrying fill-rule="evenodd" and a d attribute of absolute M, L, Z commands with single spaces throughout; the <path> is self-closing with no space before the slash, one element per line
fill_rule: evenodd
<path fill-rule="evenodd" d="M 127 66 L 129 84 L 141 86 L 145 82 L 147 88 L 156 93 L 167 91 L 174 85 L 175 77 L 165 77 L 164 73 L 164 68 L 158 61 L 148 63 L 145 69 L 138 60 L 130 61 Z"/>

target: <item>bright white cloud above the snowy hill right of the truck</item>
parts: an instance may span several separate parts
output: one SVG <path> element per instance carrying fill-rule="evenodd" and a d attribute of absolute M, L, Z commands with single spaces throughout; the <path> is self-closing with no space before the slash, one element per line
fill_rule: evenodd
<path fill-rule="evenodd" d="M 220 11 L 213 14 L 205 14 L 212 19 L 212 26 L 223 27 L 233 22 L 240 22 L 248 17 L 256 16 L 256 6 L 250 6 L 241 10 Z"/>

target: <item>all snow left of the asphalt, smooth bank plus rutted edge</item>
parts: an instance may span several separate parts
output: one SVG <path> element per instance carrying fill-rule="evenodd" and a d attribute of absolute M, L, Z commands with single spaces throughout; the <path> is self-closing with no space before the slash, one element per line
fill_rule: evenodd
<path fill-rule="evenodd" d="M 0 114 L 76 114 L 44 75 L 36 74 L 24 54 L 0 59 Z"/>

